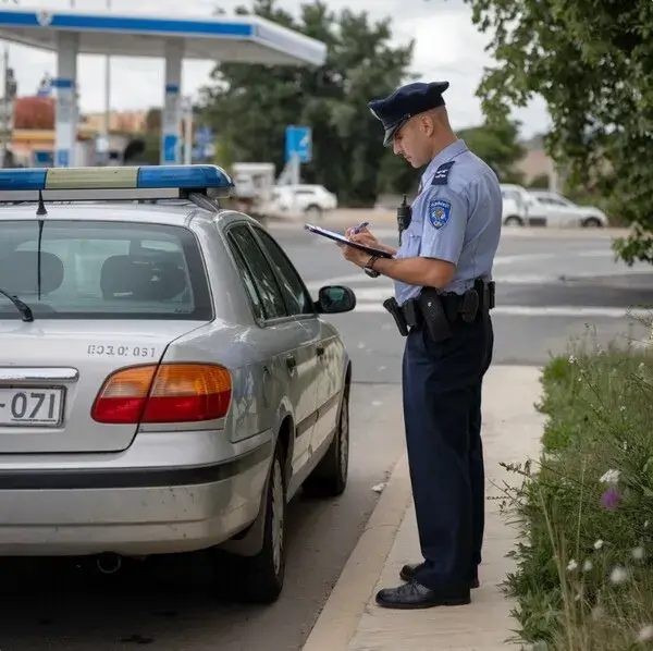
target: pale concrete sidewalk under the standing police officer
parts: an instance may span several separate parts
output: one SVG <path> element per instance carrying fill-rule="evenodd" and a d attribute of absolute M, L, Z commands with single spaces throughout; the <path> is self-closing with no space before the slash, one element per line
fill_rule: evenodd
<path fill-rule="evenodd" d="M 486 523 L 481 587 L 472 603 L 459 607 L 393 611 L 374 603 L 382 587 L 399 584 L 405 563 L 421 558 L 405 455 L 374 509 L 356 549 L 324 605 L 304 651 L 432 651 L 458 649 L 498 651 L 509 643 L 515 623 L 510 602 L 500 584 L 512 572 L 505 555 L 515 530 L 498 513 L 504 482 L 519 478 L 501 462 L 538 458 L 543 417 L 534 410 L 540 398 L 540 369 L 491 367 L 483 390 L 483 440 L 486 467 Z"/>

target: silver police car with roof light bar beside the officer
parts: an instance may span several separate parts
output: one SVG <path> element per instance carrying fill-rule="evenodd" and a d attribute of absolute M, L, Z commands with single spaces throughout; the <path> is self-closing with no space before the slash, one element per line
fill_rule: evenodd
<path fill-rule="evenodd" d="M 0 171 L 0 555 L 113 574 L 206 550 L 234 595 L 281 593 L 286 504 L 347 483 L 352 365 L 322 315 L 356 297 L 313 299 L 207 196 L 231 187 L 213 165 Z"/>

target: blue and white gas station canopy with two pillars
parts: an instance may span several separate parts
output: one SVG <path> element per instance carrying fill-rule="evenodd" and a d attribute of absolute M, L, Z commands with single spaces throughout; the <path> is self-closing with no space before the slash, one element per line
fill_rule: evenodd
<path fill-rule="evenodd" d="M 136 0 L 134 0 L 136 3 Z M 323 65 L 326 46 L 259 16 L 0 10 L 0 39 L 57 53 L 57 167 L 74 167 L 77 56 L 164 60 L 161 162 L 180 162 L 182 61 Z"/>

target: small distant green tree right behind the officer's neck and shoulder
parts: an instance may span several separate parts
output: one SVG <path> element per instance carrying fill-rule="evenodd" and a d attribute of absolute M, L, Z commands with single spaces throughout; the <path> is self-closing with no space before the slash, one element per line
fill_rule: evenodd
<path fill-rule="evenodd" d="M 502 120 L 464 128 L 458 132 L 458 137 L 496 172 L 502 183 L 521 184 L 523 175 L 515 165 L 526 150 L 519 144 L 517 122 Z"/>

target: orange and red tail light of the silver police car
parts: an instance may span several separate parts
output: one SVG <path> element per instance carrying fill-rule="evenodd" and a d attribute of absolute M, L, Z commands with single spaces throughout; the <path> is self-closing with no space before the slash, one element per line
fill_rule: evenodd
<path fill-rule="evenodd" d="M 107 378 L 91 416 L 123 425 L 211 420 L 226 415 L 231 395 L 231 374 L 221 366 L 135 366 Z"/>

